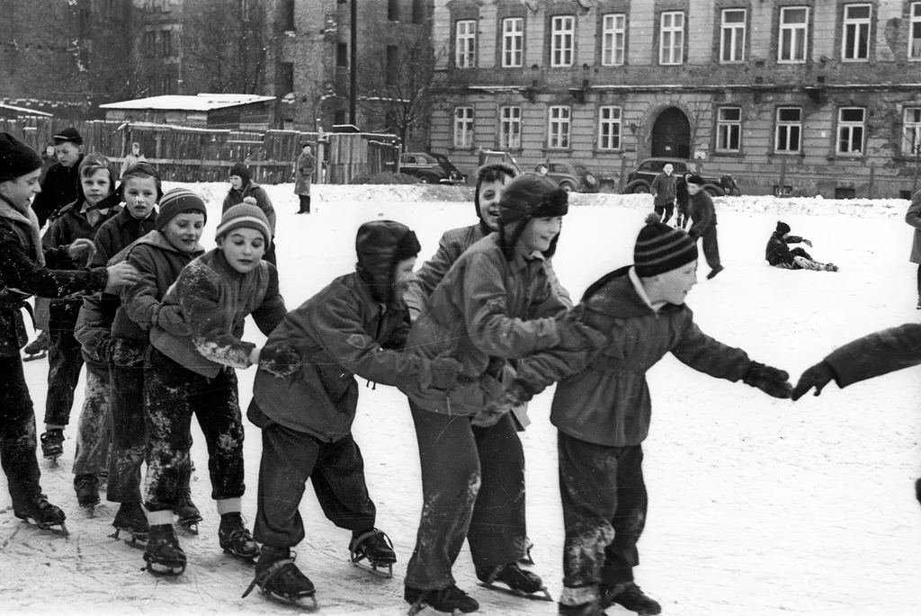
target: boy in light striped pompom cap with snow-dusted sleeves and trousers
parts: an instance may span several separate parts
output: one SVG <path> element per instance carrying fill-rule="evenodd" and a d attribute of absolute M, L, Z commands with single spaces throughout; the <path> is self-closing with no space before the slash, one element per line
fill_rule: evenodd
<path fill-rule="evenodd" d="M 165 206 L 161 204 L 162 214 Z M 221 548 L 253 561 L 259 546 L 240 516 L 243 483 L 243 424 L 235 368 L 274 366 L 271 347 L 260 350 L 240 338 L 252 315 L 269 335 L 285 317 L 278 272 L 262 261 L 272 230 L 262 210 L 239 204 L 221 217 L 217 248 L 189 263 L 163 298 L 163 309 L 178 307 L 185 331 L 152 321 L 152 348 L 146 360 L 145 408 L 150 461 L 145 506 L 150 536 L 144 559 L 152 573 L 180 575 L 185 552 L 172 528 L 178 479 L 187 464 L 192 415 L 204 433 L 212 497 L 221 516 Z M 191 239 L 186 243 L 191 244 Z"/>

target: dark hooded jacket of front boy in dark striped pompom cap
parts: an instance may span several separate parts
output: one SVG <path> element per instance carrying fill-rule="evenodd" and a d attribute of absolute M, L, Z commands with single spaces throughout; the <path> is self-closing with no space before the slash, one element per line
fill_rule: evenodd
<path fill-rule="evenodd" d="M 691 308 L 651 308 L 636 290 L 639 279 L 631 277 L 632 267 L 601 278 L 576 308 L 584 309 L 585 324 L 609 336 L 604 347 L 563 354 L 565 361 L 550 354 L 530 357 L 519 372 L 542 386 L 565 377 L 556 386 L 551 423 L 568 436 L 606 447 L 630 447 L 646 439 L 652 414 L 646 373 L 666 353 L 730 381 L 742 378 L 751 364 L 741 349 L 700 331 Z"/>

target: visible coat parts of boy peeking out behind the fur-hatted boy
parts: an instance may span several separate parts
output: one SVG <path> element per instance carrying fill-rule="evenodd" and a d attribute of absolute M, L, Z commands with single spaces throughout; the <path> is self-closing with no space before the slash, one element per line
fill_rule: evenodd
<path fill-rule="evenodd" d="M 444 232 L 438 241 L 438 250 L 435 256 L 423 263 L 419 271 L 413 274 L 413 278 L 406 289 L 404 298 L 413 319 L 418 317 L 426 308 L 428 296 L 432 295 L 432 291 L 435 290 L 435 287 L 445 277 L 451 265 L 458 260 L 464 250 L 469 249 L 473 244 L 492 232 L 483 223 Z M 572 299 L 569 297 L 569 292 L 565 290 L 556 277 L 552 261 L 548 259 L 543 265 L 547 272 L 547 277 L 550 279 L 550 284 L 554 288 L 554 293 L 563 300 L 568 308 L 572 308 Z"/>

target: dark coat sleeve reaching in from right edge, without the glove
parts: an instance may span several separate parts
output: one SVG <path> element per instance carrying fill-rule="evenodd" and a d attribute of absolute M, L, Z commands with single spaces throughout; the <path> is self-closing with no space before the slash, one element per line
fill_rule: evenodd
<path fill-rule="evenodd" d="M 921 364 L 921 325 L 905 323 L 874 331 L 835 349 L 825 357 L 834 382 L 844 388 L 868 378 Z"/>

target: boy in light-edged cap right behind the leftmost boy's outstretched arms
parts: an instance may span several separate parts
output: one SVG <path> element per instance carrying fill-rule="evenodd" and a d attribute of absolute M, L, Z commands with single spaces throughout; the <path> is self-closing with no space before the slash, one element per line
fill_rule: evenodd
<path fill-rule="evenodd" d="M 108 197 L 115 190 L 115 166 L 100 154 L 84 157 L 78 169 L 79 196 L 52 220 L 41 238 L 45 248 L 69 246 L 77 239 L 92 240 L 96 232 L 120 208 Z M 110 207 L 111 205 L 111 207 Z M 99 263 L 104 265 L 105 263 Z M 82 258 L 70 263 L 72 269 L 87 265 Z M 74 391 L 83 369 L 83 354 L 74 338 L 76 320 L 83 296 L 54 299 L 49 307 L 48 393 L 45 400 L 45 432 L 41 453 L 57 460 L 64 453 L 64 427 L 70 422 Z"/>

